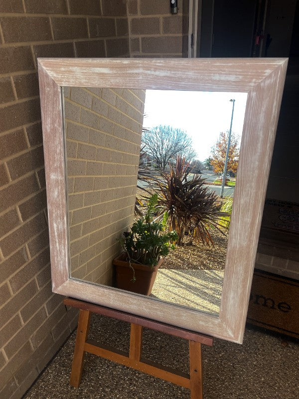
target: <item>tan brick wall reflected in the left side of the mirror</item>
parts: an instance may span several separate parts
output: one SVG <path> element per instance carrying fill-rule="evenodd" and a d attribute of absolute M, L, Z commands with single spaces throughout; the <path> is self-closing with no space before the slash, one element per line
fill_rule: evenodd
<path fill-rule="evenodd" d="M 111 285 L 133 221 L 145 90 L 65 90 L 71 276 Z"/>

